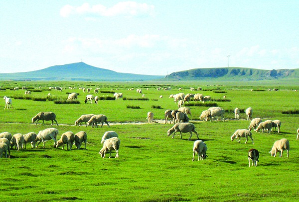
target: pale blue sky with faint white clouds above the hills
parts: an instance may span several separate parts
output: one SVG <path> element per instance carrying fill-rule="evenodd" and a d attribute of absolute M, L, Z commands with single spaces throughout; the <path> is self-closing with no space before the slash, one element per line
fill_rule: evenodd
<path fill-rule="evenodd" d="M 1 0 L 0 73 L 299 68 L 298 10 L 299 0 Z"/>

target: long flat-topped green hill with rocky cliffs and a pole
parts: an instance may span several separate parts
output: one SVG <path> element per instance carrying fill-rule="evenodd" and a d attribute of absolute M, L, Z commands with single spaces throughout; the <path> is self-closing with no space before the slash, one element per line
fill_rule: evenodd
<path fill-rule="evenodd" d="M 263 70 L 243 67 L 198 68 L 177 71 L 166 76 L 170 80 L 216 79 L 216 80 L 266 80 L 297 79 L 299 69 Z"/>

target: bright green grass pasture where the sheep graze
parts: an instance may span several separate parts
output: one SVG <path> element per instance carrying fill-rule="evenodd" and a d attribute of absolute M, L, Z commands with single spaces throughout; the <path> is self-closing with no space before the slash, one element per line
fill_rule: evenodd
<path fill-rule="evenodd" d="M 31 149 L 11 150 L 11 158 L 0 159 L 0 201 L 9 202 L 70 202 L 70 201 L 113 201 L 113 202 L 295 202 L 298 201 L 299 141 L 296 140 L 299 128 L 299 114 L 283 114 L 299 110 L 298 83 L 287 81 L 255 82 L 52 82 L 52 81 L 3 81 L 0 83 L 0 97 L 25 98 L 24 91 L 10 90 L 13 87 L 29 87 L 32 91 L 27 99 L 12 98 L 11 110 L 4 109 L 0 101 L 0 132 L 36 134 L 50 128 L 31 124 L 38 112 L 52 111 L 56 114 L 59 126 L 53 125 L 61 134 L 72 131 L 87 133 L 87 150 L 71 151 L 53 148 L 53 141 L 42 143 Z M 50 86 L 60 86 L 60 91 L 49 90 Z M 40 88 L 40 92 L 38 91 Z M 76 89 L 69 89 L 76 87 Z M 102 91 L 122 92 L 124 98 L 139 99 L 142 94 L 149 100 L 100 100 L 99 104 L 85 104 L 85 96 L 79 87 L 100 88 Z M 157 87 L 171 87 L 170 91 L 157 91 Z M 182 87 L 182 91 L 178 88 Z M 201 91 L 190 91 L 189 87 L 201 87 Z M 37 88 L 37 89 L 35 89 Z M 119 90 L 116 90 L 116 89 Z M 135 88 L 135 90 L 128 90 Z M 143 93 L 136 93 L 136 89 Z M 149 88 L 149 90 L 147 90 Z M 279 88 L 278 92 L 267 91 Z M 114 89 L 114 90 L 112 90 Z M 251 91 L 253 89 L 253 91 Z M 224 91 L 218 93 L 217 91 Z M 46 98 L 48 93 L 59 99 L 67 99 L 68 94 L 79 93 L 80 104 L 54 104 L 53 101 L 33 101 L 35 97 Z M 199 138 L 207 144 L 208 158 L 192 162 L 193 142 L 189 135 L 179 134 L 171 139 L 167 130 L 172 124 L 161 123 L 164 111 L 177 109 L 170 94 L 178 92 L 202 93 L 212 99 L 226 96 L 229 102 L 215 102 L 227 111 L 225 122 L 202 122 L 199 116 L 207 106 L 190 106 L 190 122 L 196 127 Z M 159 98 L 162 95 L 163 98 Z M 99 93 L 100 97 L 113 96 L 113 93 Z M 2 99 L 2 98 L 1 98 Z M 152 108 L 152 106 L 159 106 Z M 139 106 L 140 109 L 128 109 Z M 237 129 L 246 129 L 249 122 L 241 113 L 235 120 L 231 112 L 235 108 L 253 108 L 253 118 L 281 120 L 281 133 L 253 132 L 255 144 L 249 139 L 244 144 L 231 141 Z M 154 113 L 153 124 L 147 124 L 147 113 Z M 74 125 L 83 114 L 104 114 L 110 128 Z M 109 159 L 98 154 L 102 148 L 101 138 L 106 131 L 115 131 L 121 139 L 119 158 L 115 151 Z M 274 142 L 281 138 L 290 141 L 290 157 L 286 152 L 282 158 L 269 154 Z M 248 150 L 260 151 L 258 167 L 248 167 Z"/>

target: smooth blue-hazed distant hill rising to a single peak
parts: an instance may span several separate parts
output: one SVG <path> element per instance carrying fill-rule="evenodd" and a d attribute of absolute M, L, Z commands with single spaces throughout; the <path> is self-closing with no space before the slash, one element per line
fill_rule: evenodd
<path fill-rule="evenodd" d="M 164 77 L 119 73 L 109 69 L 93 67 L 83 62 L 57 65 L 28 72 L 0 73 L 0 80 L 140 81 L 155 80 Z"/>

